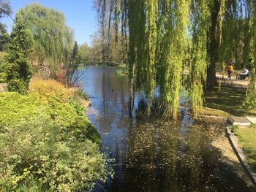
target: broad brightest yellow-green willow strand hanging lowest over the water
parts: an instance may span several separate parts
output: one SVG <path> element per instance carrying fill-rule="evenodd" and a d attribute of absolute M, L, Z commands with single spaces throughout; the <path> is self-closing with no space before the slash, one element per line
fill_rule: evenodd
<path fill-rule="evenodd" d="M 182 66 L 186 59 L 190 1 L 166 1 L 167 17 L 159 64 L 160 103 L 165 116 L 178 115 Z"/>

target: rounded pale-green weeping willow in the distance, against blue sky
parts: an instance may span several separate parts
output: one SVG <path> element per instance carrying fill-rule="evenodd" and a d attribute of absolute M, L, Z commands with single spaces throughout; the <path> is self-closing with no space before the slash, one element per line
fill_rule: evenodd
<path fill-rule="evenodd" d="M 47 63 L 52 74 L 56 74 L 74 43 L 73 31 L 66 26 L 64 15 L 37 3 L 19 12 L 33 36 L 31 60 L 39 65 Z"/>

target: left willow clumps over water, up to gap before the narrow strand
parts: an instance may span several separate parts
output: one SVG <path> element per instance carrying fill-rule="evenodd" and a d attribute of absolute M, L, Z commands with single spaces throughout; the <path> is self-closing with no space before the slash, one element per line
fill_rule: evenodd
<path fill-rule="evenodd" d="M 129 76 L 145 90 L 148 112 L 159 83 L 164 115 L 178 115 L 189 6 L 190 1 L 130 1 Z"/>

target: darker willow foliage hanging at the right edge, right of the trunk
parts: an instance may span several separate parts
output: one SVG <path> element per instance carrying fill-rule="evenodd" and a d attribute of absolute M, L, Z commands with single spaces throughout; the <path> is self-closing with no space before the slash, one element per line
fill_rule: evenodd
<path fill-rule="evenodd" d="M 236 59 L 236 67 L 250 70 L 250 82 L 246 92 L 245 105 L 250 110 L 256 109 L 256 1 L 228 1 L 227 12 L 222 22 L 222 45 L 220 62 Z"/>

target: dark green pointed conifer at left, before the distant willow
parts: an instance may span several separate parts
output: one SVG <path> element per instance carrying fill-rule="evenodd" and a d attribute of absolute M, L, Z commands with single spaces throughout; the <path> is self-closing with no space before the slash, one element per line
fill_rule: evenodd
<path fill-rule="evenodd" d="M 16 15 L 15 24 L 7 47 L 6 73 L 9 91 L 26 94 L 31 80 L 32 69 L 28 56 L 31 48 L 31 37 L 23 24 L 20 14 Z"/>

